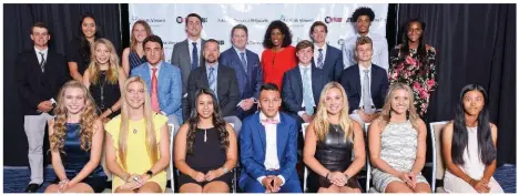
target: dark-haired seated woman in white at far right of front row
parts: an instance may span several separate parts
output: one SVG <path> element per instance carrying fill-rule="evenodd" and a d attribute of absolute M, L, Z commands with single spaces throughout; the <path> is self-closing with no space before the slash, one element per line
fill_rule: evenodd
<path fill-rule="evenodd" d="M 455 120 L 441 134 L 449 193 L 505 193 L 492 177 L 496 172 L 497 126 L 489 122 L 485 89 L 468 84 L 461 90 Z"/>

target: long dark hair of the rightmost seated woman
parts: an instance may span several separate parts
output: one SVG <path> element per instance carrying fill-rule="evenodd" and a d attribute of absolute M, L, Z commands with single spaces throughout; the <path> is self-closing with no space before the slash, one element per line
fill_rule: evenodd
<path fill-rule="evenodd" d="M 490 120 L 488 111 L 488 95 L 485 89 L 478 84 L 468 84 L 461 89 L 459 93 L 459 101 L 456 104 L 455 109 L 455 119 L 454 119 L 454 131 L 452 131 L 452 147 L 450 148 L 452 162 L 457 165 L 464 165 L 464 152 L 468 146 L 468 132 L 467 124 L 465 123 L 465 107 L 464 107 L 464 96 L 469 91 L 479 91 L 485 99 L 485 105 L 478 114 L 478 151 L 479 158 L 486 165 L 492 163 L 497 157 L 496 147 L 493 146 L 491 131 L 490 131 Z"/>

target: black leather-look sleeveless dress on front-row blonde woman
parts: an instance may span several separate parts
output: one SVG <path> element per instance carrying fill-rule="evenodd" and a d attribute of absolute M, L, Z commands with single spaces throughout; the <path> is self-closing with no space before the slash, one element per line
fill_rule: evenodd
<path fill-rule="evenodd" d="M 352 164 L 353 143 L 344 140 L 344 132 L 338 124 L 329 124 L 328 133 L 324 142 L 318 141 L 314 157 L 330 172 L 344 172 Z M 348 175 L 350 178 L 346 186 L 359 188 L 355 175 Z M 307 178 L 311 192 L 317 192 L 319 187 L 329 187 L 325 177 L 311 171 Z"/>

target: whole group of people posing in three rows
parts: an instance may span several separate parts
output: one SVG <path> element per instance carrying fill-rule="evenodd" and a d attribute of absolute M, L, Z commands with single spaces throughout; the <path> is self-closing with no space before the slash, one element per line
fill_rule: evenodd
<path fill-rule="evenodd" d="M 273 21 L 260 58 L 246 49 L 245 25 L 233 27 L 233 47 L 221 53 L 216 40 L 201 38 L 202 18 L 190 13 L 187 38 L 174 45 L 171 63 L 142 20 L 121 59 L 92 14 L 81 18 L 67 58 L 49 50 L 49 29 L 37 22 L 34 48 L 16 62 L 29 141 L 27 192 L 43 183 L 45 123 L 57 175 L 50 193 L 102 192 L 102 155 L 115 193 L 165 192 L 169 166 L 180 172 L 181 193 L 226 193 L 238 164 L 243 192 L 302 193 L 298 150 L 317 192 L 359 193 L 366 157 L 377 191 L 431 192 L 420 174 L 427 137 L 420 117 L 437 88 L 425 23 L 407 22 L 389 55 L 386 39 L 369 32 L 373 10 L 359 8 L 353 19 L 357 35 L 342 50 L 327 44 L 324 22 L 311 27 L 312 41 L 293 47 L 288 27 Z M 470 84 L 459 99 L 442 134 L 445 188 L 502 192 L 492 178 L 497 127 L 486 92 Z"/>

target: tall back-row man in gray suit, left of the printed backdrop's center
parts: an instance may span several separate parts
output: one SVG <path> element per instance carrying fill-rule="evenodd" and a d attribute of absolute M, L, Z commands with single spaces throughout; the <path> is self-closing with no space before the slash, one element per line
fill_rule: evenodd
<path fill-rule="evenodd" d="M 186 85 L 190 72 L 204 64 L 202 47 L 205 44 L 205 40 L 201 38 L 202 29 L 202 17 L 196 13 L 187 14 L 185 18 L 187 39 L 173 47 L 171 64 L 179 65 L 181 70 L 183 98 L 186 98 Z"/>

